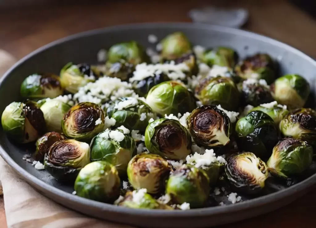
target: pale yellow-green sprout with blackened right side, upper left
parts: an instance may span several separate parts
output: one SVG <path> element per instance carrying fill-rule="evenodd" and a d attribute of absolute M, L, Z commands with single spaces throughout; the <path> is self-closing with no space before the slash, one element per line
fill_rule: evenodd
<path fill-rule="evenodd" d="M 79 87 L 94 82 L 98 76 L 98 72 L 86 63 L 74 65 L 69 62 L 60 71 L 61 85 L 70 93 L 78 92 Z"/>

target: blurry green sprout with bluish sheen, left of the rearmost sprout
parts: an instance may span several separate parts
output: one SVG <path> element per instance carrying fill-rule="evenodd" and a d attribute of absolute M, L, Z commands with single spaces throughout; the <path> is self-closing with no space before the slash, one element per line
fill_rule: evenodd
<path fill-rule="evenodd" d="M 146 56 L 143 47 L 136 41 L 130 41 L 111 46 L 107 63 L 127 62 L 137 65 L 146 62 L 147 59 L 148 56 Z"/>

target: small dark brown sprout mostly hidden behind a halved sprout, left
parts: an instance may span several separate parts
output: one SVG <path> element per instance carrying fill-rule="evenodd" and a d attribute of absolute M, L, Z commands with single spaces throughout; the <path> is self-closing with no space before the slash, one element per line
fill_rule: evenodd
<path fill-rule="evenodd" d="M 52 146 L 52 144 L 64 139 L 66 139 L 64 134 L 60 134 L 58 132 L 48 132 L 44 134 L 35 143 L 36 145 L 36 151 L 34 154 L 35 160 L 43 161 L 44 155 L 48 152 L 48 149 Z"/>

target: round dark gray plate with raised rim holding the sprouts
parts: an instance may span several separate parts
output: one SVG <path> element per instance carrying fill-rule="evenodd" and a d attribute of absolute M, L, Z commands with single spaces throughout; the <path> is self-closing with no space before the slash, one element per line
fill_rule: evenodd
<path fill-rule="evenodd" d="M 147 42 L 149 34 L 155 34 L 161 39 L 174 31 L 185 32 L 194 45 L 233 47 L 240 58 L 256 52 L 269 53 L 279 61 L 282 74 L 303 75 L 310 82 L 312 91 L 315 91 L 316 62 L 301 51 L 276 40 L 251 32 L 203 24 L 137 24 L 83 32 L 55 41 L 24 57 L 1 79 L 0 113 L 10 102 L 20 100 L 21 82 L 32 73 L 58 74 L 59 70 L 70 61 L 95 63 L 97 52 L 101 48 L 108 49 L 112 44 L 126 40 L 137 40 L 149 47 L 152 45 Z M 31 148 L 11 143 L 2 129 L 0 144 L 0 154 L 4 160 L 29 184 L 55 202 L 100 219 L 145 227 L 210 227 L 250 218 L 294 201 L 316 183 L 316 174 L 314 174 L 292 187 L 227 206 L 189 211 L 129 209 L 72 195 L 72 186 L 59 184 L 46 171 L 38 171 L 30 163 L 23 161 L 22 156 L 32 152 Z"/>

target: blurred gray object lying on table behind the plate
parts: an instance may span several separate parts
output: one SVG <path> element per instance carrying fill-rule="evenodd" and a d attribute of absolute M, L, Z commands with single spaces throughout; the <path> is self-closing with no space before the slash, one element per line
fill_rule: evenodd
<path fill-rule="evenodd" d="M 206 7 L 190 10 L 189 16 L 193 22 L 239 28 L 246 23 L 249 13 L 248 10 L 242 8 L 224 9 Z"/>

